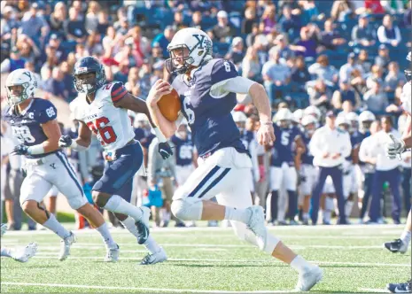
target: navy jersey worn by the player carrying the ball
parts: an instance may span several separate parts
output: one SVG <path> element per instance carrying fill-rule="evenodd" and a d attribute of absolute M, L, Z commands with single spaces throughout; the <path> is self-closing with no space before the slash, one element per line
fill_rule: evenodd
<path fill-rule="evenodd" d="M 212 97 L 211 87 L 237 77 L 235 66 L 224 59 L 212 59 L 192 71 L 192 79 L 183 80 L 179 74 L 172 86 L 182 103 L 183 116 L 188 120 L 193 142 L 200 157 L 210 155 L 225 147 L 234 147 L 247 153 L 230 112 L 237 104 L 236 94 Z"/>

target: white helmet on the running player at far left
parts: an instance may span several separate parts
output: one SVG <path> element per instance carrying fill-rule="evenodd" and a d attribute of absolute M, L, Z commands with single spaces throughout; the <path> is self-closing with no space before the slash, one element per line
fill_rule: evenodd
<path fill-rule="evenodd" d="M 19 94 L 13 94 L 10 89 L 12 86 L 21 86 L 21 92 Z M 35 78 L 35 74 L 25 68 L 19 68 L 12 71 L 5 81 L 8 104 L 19 104 L 28 98 L 35 97 L 36 88 L 37 79 Z"/>

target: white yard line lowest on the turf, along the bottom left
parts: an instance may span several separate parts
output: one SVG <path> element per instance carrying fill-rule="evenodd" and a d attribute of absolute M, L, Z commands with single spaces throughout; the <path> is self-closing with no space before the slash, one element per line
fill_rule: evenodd
<path fill-rule="evenodd" d="M 258 290 L 258 291 L 228 291 L 228 290 L 194 290 L 194 289 L 165 289 L 165 288 L 146 288 L 146 287 L 117 287 L 117 286 L 94 286 L 94 285 L 73 285 L 64 283 L 43 283 L 43 282 L 2 282 L 2 285 L 11 286 L 42 286 L 51 288 L 78 288 L 78 289 L 100 289 L 100 290 L 144 290 L 152 292 L 191 292 L 191 293 L 285 293 L 292 290 Z"/>

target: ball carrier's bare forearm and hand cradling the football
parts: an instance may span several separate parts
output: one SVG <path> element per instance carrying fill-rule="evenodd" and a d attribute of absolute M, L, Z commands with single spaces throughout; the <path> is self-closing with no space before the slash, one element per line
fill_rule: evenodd
<path fill-rule="evenodd" d="M 155 125 L 159 127 L 161 133 L 167 138 L 170 138 L 175 134 L 176 125 L 175 122 L 167 120 L 160 112 L 158 102 L 163 95 L 170 93 L 170 84 L 167 81 L 158 80 L 154 83 L 149 96 L 146 99 L 147 108 L 151 113 L 152 120 Z"/>

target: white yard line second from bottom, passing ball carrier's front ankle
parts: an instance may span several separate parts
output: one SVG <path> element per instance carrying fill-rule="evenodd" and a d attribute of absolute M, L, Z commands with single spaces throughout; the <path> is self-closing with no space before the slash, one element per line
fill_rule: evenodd
<path fill-rule="evenodd" d="M 34 259 L 56 259 L 54 255 L 42 255 L 35 256 Z M 69 259 L 103 259 L 103 256 L 70 256 Z M 123 257 L 120 260 L 140 260 L 141 257 Z M 280 263 L 275 259 L 167 259 L 168 261 L 194 261 L 194 262 L 245 262 L 245 263 Z M 347 265 L 347 266 L 359 266 L 359 267 L 410 267 L 408 263 L 373 263 L 373 262 L 346 262 L 346 261 L 319 261 L 319 260 L 310 260 L 318 265 Z"/>

